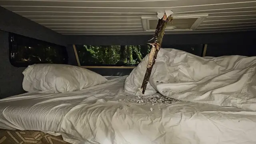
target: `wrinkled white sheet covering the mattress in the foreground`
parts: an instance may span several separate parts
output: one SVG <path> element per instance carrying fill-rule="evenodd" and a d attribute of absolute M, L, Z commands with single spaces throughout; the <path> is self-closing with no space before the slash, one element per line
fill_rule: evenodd
<path fill-rule="evenodd" d="M 256 143 L 256 112 L 194 102 L 149 111 L 142 103 L 116 101 L 128 95 L 126 77 L 82 91 L 2 99 L 0 128 L 61 134 L 72 144 Z"/>

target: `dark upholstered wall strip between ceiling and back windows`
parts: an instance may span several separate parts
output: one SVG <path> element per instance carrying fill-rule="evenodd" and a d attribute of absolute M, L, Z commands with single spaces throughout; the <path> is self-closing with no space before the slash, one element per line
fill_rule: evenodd
<path fill-rule="evenodd" d="M 211 34 L 174 34 L 165 35 L 162 45 L 170 44 L 222 44 L 246 43 L 255 40 L 256 31 Z M 68 36 L 68 44 L 123 44 L 144 45 L 152 36 Z"/>

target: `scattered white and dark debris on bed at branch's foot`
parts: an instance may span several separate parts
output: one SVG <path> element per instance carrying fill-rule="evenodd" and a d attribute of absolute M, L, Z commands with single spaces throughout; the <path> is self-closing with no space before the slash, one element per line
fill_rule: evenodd
<path fill-rule="evenodd" d="M 168 98 L 166 96 L 136 96 L 136 97 L 128 97 L 124 99 L 125 102 L 130 103 L 151 103 L 154 106 L 156 103 L 160 104 L 173 104 L 174 102 L 180 102 L 180 100 L 176 100 L 173 98 Z"/>

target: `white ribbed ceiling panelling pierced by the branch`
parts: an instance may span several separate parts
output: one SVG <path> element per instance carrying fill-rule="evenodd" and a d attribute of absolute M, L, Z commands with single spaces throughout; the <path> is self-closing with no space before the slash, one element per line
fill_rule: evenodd
<path fill-rule="evenodd" d="M 154 34 L 143 30 L 141 17 L 163 10 L 208 14 L 196 30 L 166 34 L 256 30 L 254 0 L 0 0 L 0 6 L 66 35 Z"/>

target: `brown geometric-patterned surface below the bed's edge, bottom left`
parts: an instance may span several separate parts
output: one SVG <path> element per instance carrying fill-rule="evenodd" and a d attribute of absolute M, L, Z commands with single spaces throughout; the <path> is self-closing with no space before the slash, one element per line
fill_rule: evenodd
<path fill-rule="evenodd" d="M 32 130 L 0 130 L 0 144 L 70 144 L 62 136 Z"/>

